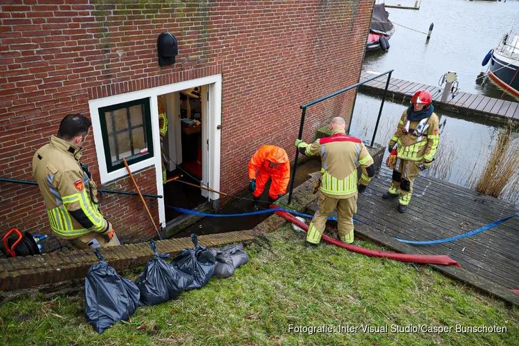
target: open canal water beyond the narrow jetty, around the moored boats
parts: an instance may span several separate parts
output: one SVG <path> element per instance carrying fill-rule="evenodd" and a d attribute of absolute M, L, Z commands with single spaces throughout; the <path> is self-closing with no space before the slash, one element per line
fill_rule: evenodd
<path fill-rule="evenodd" d="M 377 0 L 379 3 L 382 0 Z M 383 1 L 382 1 L 383 2 Z M 415 0 L 388 0 L 388 4 L 414 6 Z M 479 78 L 488 66 L 482 60 L 519 16 L 519 1 L 421 0 L 419 10 L 386 8 L 395 33 L 390 49 L 367 52 L 364 71 L 394 69 L 394 78 L 430 85 L 448 71 L 457 72 L 460 91 L 481 93 L 492 98 L 514 100 L 489 78 Z M 434 23 L 426 44 L 429 25 Z M 421 31 L 416 31 L 408 28 Z"/>

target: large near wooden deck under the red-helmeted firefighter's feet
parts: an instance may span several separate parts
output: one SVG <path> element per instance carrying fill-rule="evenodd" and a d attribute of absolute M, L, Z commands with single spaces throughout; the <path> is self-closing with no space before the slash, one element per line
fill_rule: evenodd
<path fill-rule="evenodd" d="M 382 199 L 391 181 L 388 167 L 381 168 L 364 194 L 358 197 L 354 216 L 356 236 L 365 237 L 400 253 L 448 255 L 455 266 L 433 265 L 437 270 L 502 300 L 519 306 L 519 217 L 470 237 L 434 245 L 411 245 L 394 237 L 414 241 L 454 237 L 517 212 L 500 199 L 446 183 L 422 174 L 413 186 L 408 211 L 397 211 L 397 200 Z M 316 204 L 307 208 L 313 214 Z M 333 216 L 336 216 L 335 213 Z"/>

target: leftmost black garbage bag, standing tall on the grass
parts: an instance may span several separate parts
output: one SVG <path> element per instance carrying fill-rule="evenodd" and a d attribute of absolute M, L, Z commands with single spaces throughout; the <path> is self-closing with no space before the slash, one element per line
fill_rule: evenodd
<path fill-rule="evenodd" d="M 121 277 L 104 260 L 93 264 L 84 280 L 84 313 L 95 331 L 102 333 L 120 320 L 129 320 L 140 305 L 140 291 L 133 281 Z"/>

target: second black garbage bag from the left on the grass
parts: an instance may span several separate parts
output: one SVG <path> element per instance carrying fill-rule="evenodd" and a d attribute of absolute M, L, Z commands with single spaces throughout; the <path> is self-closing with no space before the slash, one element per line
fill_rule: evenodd
<path fill-rule="evenodd" d="M 153 239 L 149 241 L 155 255 L 147 262 L 143 273 L 136 284 L 140 289 L 140 301 L 147 305 L 155 305 L 174 299 L 193 282 L 193 275 L 183 273 L 165 260 L 169 253 L 157 253 Z"/>

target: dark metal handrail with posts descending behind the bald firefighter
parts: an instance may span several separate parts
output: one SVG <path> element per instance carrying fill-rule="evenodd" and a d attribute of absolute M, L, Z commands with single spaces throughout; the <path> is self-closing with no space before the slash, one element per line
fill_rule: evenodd
<path fill-rule="evenodd" d="M 308 107 L 313 106 L 313 104 L 318 104 L 319 102 L 328 100 L 329 98 L 333 98 L 334 96 L 340 95 L 341 93 L 345 93 L 346 91 L 350 91 L 352 89 L 356 89 L 355 100 L 353 102 L 353 107 L 352 107 L 352 115 L 349 117 L 349 125 L 348 125 L 348 133 L 349 133 L 349 128 L 352 126 L 353 110 L 354 110 L 355 102 L 356 102 L 356 99 L 357 99 L 358 87 L 361 86 L 362 84 L 366 84 L 367 82 L 371 82 L 372 80 L 376 80 L 376 78 L 379 78 L 379 77 L 381 77 L 383 75 L 388 75 L 388 80 L 385 82 L 384 95 L 382 97 L 382 102 L 380 104 L 379 116 L 377 116 L 377 118 L 376 118 L 375 129 L 373 131 L 373 137 L 372 137 L 371 144 L 370 144 L 370 146 L 372 147 L 373 143 L 375 142 L 376 131 L 379 129 L 379 122 L 380 122 L 380 117 L 382 115 L 382 109 L 384 107 L 385 96 L 388 95 L 388 86 L 389 86 L 389 82 L 391 80 L 391 73 L 393 73 L 393 71 L 394 70 L 390 70 L 390 71 L 386 71 L 386 72 L 380 73 L 379 75 L 375 75 L 372 78 L 368 78 L 367 80 L 363 80 L 362 82 L 358 82 L 356 84 L 350 85 L 350 86 L 348 86 L 345 89 L 341 89 L 339 91 L 336 91 L 335 93 L 331 93 L 329 95 L 323 96 L 322 98 L 318 98 L 317 100 L 313 100 L 311 102 L 305 103 L 302 106 L 300 106 L 300 109 L 302 109 L 302 113 L 301 113 L 301 122 L 300 122 L 300 125 L 299 125 L 299 136 L 298 136 L 298 139 L 302 139 L 302 130 L 303 130 L 303 126 L 304 126 L 304 116 L 307 113 L 307 108 Z M 295 150 L 295 161 L 293 163 L 292 179 L 291 179 L 291 182 L 290 182 L 289 204 L 292 201 L 293 183 L 295 181 L 295 170 L 298 169 L 298 158 L 299 158 L 299 148 L 296 148 L 296 150 Z"/>

